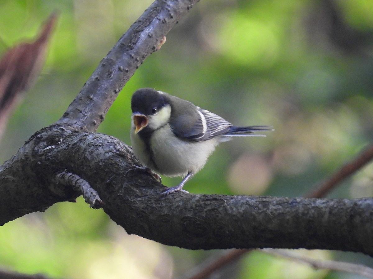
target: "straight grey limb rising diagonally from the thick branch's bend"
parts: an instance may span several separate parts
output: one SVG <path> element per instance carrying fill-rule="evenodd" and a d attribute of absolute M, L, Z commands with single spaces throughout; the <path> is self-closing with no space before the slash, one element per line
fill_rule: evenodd
<path fill-rule="evenodd" d="M 57 123 L 94 132 L 110 106 L 148 55 L 165 42 L 166 34 L 198 0 L 156 0 L 100 62 L 81 92 Z"/>

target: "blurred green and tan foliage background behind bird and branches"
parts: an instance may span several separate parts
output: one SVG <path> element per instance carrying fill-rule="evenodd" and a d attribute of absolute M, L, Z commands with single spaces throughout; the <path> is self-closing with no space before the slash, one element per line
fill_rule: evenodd
<path fill-rule="evenodd" d="M 55 122 L 151 0 L 2 0 L 0 54 L 60 17 L 37 83 L 0 141 L 1 163 Z M 98 132 L 130 144 L 130 98 L 153 87 L 266 138 L 221 144 L 185 186 L 192 193 L 302 196 L 373 140 L 372 0 L 204 0 L 119 94 Z M 330 198 L 373 195 L 369 164 Z M 180 179 L 163 178 L 174 186 Z M 128 235 L 102 210 L 59 203 L 0 227 L 0 267 L 52 278 L 175 278 L 225 251 L 189 251 Z M 305 251 L 373 267 L 355 253 Z M 225 273 L 228 272 L 228 273 Z M 359 278 L 259 251 L 215 278 Z M 219 277 L 220 276 L 220 277 Z"/>

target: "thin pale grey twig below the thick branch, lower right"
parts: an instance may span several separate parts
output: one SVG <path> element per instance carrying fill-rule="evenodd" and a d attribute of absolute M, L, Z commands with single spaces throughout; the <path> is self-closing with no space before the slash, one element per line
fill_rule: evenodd
<path fill-rule="evenodd" d="M 333 260 L 315 260 L 309 257 L 292 253 L 289 250 L 285 249 L 264 248 L 261 249 L 261 251 L 274 256 L 291 259 L 295 262 L 309 264 L 314 269 L 329 269 L 339 272 L 357 274 L 360 276 L 365 276 L 367 278 L 373 278 L 373 269 L 367 266 L 363 266 L 362 264 L 338 262 Z"/>

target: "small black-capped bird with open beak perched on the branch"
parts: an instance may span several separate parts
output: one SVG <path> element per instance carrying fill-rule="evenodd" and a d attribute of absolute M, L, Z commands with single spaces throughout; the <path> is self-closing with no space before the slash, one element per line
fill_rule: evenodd
<path fill-rule="evenodd" d="M 168 196 L 183 191 L 183 186 L 207 161 L 215 147 L 232 137 L 261 136 L 272 126 L 233 126 L 224 118 L 193 103 L 152 88 L 138 89 L 131 98 L 132 150 L 144 166 L 132 170 L 147 171 L 156 179 L 181 176 L 182 181 L 162 192 Z"/>

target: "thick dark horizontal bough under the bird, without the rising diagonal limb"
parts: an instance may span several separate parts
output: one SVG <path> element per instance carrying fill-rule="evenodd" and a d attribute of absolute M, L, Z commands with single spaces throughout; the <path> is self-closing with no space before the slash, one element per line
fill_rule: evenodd
<path fill-rule="evenodd" d="M 48 183 L 56 170 L 74 170 L 90 183 L 105 203 L 105 212 L 129 234 L 188 249 L 216 248 L 319 248 L 373 255 L 373 198 L 288 199 L 251 196 L 193 195 L 175 193 L 160 198 L 164 186 L 151 176 L 126 172 L 138 164 L 130 148 L 101 134 L 69 131 L 62 127 L 55 137 L 46 129 L 35 135 L 0 169 L 3 177 L 24 166 L 27 159 L 35 180 L 33 196 L 1 204 L 0 222 L 23 203 L 29 212 L 78 195 L 70 187 Z M 62 136 L 62 140 L 61 140 Z M 44 138 L 47 137 L 47 138 Z M 29 181 L 29 180 L 28 180 Z M 25 182 L 26 183 L 26 182 Z M 10 178 L 1 183 L 0 195 L 19 192 L 24 186 Z M 37 199 L 37 203 L 30 200 Z M 38 208 L 31 207 L 31 204 Z M 5 217 L 6 216 L 6 217 Z M 13 215 L 13 219 L 18 217 Z"/>

